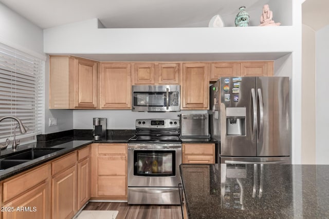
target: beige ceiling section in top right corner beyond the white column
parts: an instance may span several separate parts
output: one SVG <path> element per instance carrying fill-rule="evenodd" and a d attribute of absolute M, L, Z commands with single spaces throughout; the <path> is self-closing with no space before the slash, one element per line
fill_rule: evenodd
<path fill-rule="evenodd" d="M 302 23 L 317 31 L 329 25 L 328 0 L 306 0 L 302 4 Z"/>

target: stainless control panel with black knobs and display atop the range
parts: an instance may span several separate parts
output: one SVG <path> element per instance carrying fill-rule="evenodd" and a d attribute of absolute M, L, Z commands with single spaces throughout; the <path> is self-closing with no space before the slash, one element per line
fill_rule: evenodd
<path fill-rule="evenodd" d="M 145 118 L 136 120 L 136 128 L 179 128 L 179 120 L 171 118 Z"/>

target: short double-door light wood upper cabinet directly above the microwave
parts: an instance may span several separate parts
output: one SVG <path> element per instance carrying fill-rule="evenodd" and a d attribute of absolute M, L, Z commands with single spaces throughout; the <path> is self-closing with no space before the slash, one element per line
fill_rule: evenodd
<path fill-rule="evenodd" d="M 179 84 L 179 63 L 134 63 L 133 85 Z"/>

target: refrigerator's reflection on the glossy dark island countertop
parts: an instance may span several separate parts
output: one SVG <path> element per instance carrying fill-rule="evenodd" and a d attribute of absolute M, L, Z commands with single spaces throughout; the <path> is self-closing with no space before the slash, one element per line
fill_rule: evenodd
<path fill-rule="evenodd" d="M 222 208 L 294 209 L 292 175 L 291 167 L 286 165 L 221 164 Z"/>

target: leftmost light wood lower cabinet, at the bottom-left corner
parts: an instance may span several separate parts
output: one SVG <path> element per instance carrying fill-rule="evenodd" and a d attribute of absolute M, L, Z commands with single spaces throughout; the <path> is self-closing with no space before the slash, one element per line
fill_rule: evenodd
<path fill-rule="evenodd" d="M 2 218 L 50 218 L 50 165 L 3 181 Z"/>

